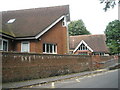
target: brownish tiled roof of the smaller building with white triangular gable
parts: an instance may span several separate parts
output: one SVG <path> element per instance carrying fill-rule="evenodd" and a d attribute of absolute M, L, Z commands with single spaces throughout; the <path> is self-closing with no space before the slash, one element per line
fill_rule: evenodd
<path fill-rule="evenodd" d="M 108 52 L 104 34 L 70 36 L 70 49 L 74 50 L 82 40 L 93 50 L 93 52 Z"/>

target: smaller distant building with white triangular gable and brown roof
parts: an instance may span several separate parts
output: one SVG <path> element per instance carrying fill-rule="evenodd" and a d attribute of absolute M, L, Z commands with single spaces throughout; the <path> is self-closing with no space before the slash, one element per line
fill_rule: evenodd
<path fill-rule="evenodd" d="M 108 55 L 106 37 L 99 35 L 70 36 L 70 53 L 79 55 Z"/>

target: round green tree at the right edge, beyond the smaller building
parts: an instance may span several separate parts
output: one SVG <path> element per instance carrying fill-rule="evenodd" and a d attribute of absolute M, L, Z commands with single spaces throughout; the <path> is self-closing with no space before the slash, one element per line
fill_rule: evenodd
<path fill-rule="evenodd" d="M 120 21 L 114 20 L 110 22 L 106 29 L 106 43 L 111 54 L 120 54 Z"/>

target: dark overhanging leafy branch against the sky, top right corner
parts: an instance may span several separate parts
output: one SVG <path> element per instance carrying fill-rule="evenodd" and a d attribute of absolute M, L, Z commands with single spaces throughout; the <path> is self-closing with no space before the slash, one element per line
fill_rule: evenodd
<path fill-rule="evenodd" d="M 105 11 L 109 8 L 114 8 L 117 0 L 100 0 L 100 3 L 104 3 L 105 7 L 103 8 Z M 118 0 L 118 4 L 120 5 L 120 0 Z"/>

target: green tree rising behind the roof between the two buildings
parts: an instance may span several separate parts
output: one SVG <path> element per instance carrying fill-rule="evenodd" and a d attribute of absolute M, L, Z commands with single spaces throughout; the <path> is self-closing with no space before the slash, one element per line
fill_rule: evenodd
<path fill-rule="evenodd" d="M 69 35 L 85 35 L 90 34 L 89 31 L 87 31 L 84 22 L 82 20 L 77 21 L 71 21 L 68 25 Z"/>

